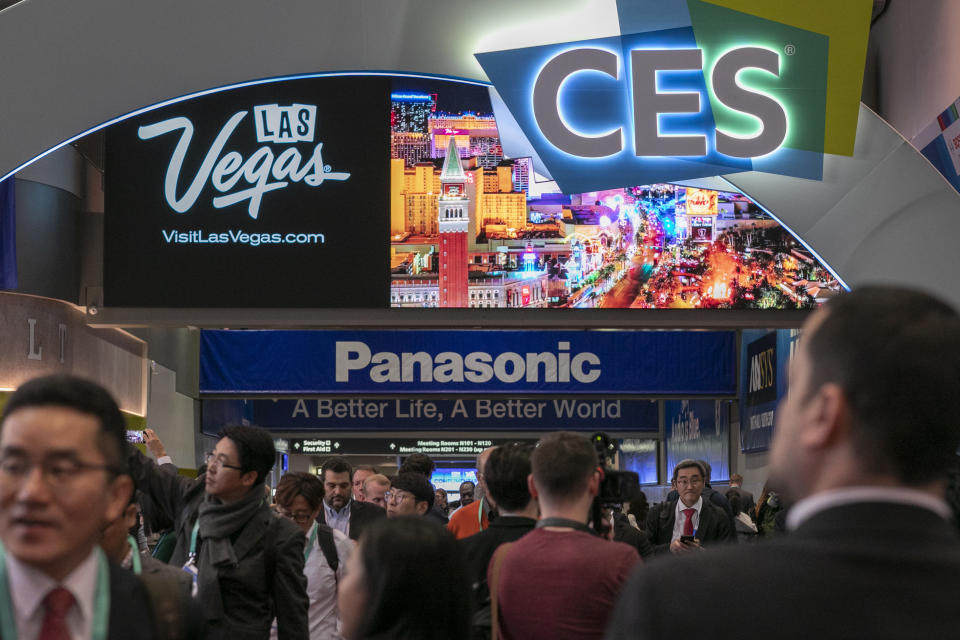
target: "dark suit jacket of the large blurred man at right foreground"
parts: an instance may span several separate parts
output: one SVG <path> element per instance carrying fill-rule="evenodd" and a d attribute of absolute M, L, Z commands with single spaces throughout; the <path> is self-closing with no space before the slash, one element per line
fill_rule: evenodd
<path fill-rule="evenodd" d="M 740 638 L 743 617 L 733 612 L 748 602 L 751 628 L 778 640 L 955 638 L 957 576 L 960 537 L 935 513 L 882 502 L 837 506 L 780 538 L 643 567 L 606 637 L 674 640 L 709 629 L 714 638 Z"/>

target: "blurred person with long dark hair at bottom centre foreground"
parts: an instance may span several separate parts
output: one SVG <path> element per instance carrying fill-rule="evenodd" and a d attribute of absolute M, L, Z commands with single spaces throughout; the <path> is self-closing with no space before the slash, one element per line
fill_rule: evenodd
<path fill-rule="evenodd" d="M 416 516 L 382 519 L 360 538 L 340 583 L 346 640 L 469 636 L 470 590 L 453 536 Z"/>

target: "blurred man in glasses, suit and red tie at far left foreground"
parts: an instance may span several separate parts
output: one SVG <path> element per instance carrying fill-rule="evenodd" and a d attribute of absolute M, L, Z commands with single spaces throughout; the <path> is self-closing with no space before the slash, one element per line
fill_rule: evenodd
<path fill-rule="evenodd" d="M 133 482 L 126 425 L 102 387 L 71 376 L 22 385 L 0 416 L 4 638 L 186 638 L 158 627 L 143 583 L 97 546 Z M 106 583 L 102 592 L 97 585 Z"/>

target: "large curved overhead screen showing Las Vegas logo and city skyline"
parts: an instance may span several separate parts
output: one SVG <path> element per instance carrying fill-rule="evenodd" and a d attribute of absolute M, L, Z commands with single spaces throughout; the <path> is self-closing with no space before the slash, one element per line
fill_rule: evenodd
<path fill-rule="evenodd" d="M 813 308 L 843 284 L 738 193 L 564 193 L 488 87 L 311 76 L 107 130 L 104 303 L 219 308 Z"/>

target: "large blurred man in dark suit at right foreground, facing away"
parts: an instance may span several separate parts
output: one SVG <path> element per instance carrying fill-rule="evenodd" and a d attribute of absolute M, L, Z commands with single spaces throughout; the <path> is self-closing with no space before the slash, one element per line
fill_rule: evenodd
<path fill-rule="evenodd" d="M 738 637 L 742 618 L 716 612 L 744 602 L 781 640 L 955 636 L 960 538 L 943 478 L 958 416 L 954 309 L 890 287 L 830 301 L 804 325 L 776 415 L 771 483 L 792 503 L 790 532 L 637 572 L 607 638 Z"/>

